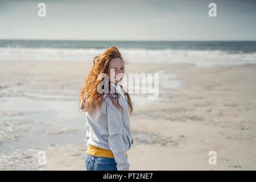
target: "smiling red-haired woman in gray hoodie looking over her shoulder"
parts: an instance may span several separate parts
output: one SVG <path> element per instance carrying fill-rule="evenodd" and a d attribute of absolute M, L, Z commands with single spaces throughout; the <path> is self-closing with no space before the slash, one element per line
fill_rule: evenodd
<path fill-rule="evenodd" d="M 94 57 L 93 67 L 80 89 L 79 107 L 86 115 L 88 171 L 129 170 L 126 151 L 133 143 L 129 119 L 133 104 L 121 85 L 124 74 L 121 53 L 116 47 L 109 47 Z"/>

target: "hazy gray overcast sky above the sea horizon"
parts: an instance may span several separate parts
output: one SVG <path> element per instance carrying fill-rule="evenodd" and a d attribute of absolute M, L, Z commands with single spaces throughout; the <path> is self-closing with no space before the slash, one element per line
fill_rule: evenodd
<path fill-rule="evenodd" d="M 256 1 L 0 1 L 0 23 L 0 39 L 256 40 Z"/>

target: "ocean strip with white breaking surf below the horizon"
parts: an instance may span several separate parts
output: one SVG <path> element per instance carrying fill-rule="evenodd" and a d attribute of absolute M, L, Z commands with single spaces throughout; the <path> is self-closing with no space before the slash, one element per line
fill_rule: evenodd
<path fill-rule="evenodd" d="M 92 63 L 110 46 L 117 47 L 127 63 L 256 64 L 256 41 L 0 40 L 0 61 Z"/>

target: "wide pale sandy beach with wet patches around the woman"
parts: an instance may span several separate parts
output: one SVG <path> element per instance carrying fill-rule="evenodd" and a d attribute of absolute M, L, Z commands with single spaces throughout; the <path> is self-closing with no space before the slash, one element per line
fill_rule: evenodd
<path fill-rule="evenodd" d="M 78 98 L 92 64 L 0 65 L 0 169 L 85 170 L 85 117 L 79 114 Z M 127 152 L 131 170 L 256 169 L 256 65 L 126 67 L 127 73 L 164 70 L 165 77 L 172 76 L 166 87 L 160 86 L 158 101 L 140 95 L 144 105 L 134 102 L 134 144 Z M 164 81 L 161 74 L 159 81 Z M 172 83 L 180 86 L 170 89 Z M 38 164 L 42 150 L 45 165 Z M 209 151 L 216 152 L 217 164 L 209 164 Z"/>

